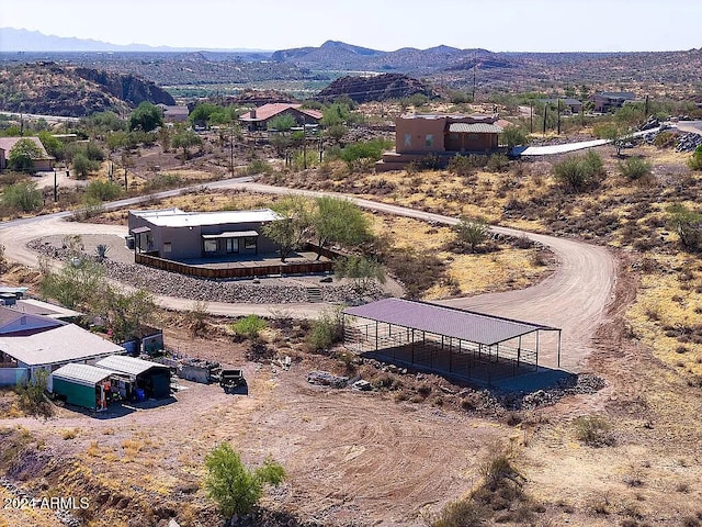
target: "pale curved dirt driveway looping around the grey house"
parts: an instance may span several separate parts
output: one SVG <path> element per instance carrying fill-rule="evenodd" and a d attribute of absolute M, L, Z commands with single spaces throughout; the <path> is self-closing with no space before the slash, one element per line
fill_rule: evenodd
<path fill-rule="evenodd" d="M 241 181 L 240 179 L 218 181 L 206 187 L 248 189 L 256 192 L 278 194 L 326 194 L 299 189 L 269 187 Z M 369 210 L 449 225 L 458 223 L 457 218 L 451 216 L 362 200 L 352 195 L 346 195 L 346 198 Z M 132 203 L 137 203 L 137 201 Z M 29 266 L 36 266 L 37 255 L 29 250 L 25 244 L 30 239 L 49 234 L 112 234 L 120 236 L 127 234 L 126 228 L 120 226 L 65 222 L 64 218 L 67 215 L 67 213 L 58 213 L 0 225 L 0 244 L 5 246 L 8 259 Z M 559 327 L 563 329 L 561 367 L 570 371 L 580 370 L 584 366 L 584 359 L 592 350 L 592 337 L 603 319 L 607 305 L 613 296 L 616 279 L 616 266 L 613 256 L 603 247 L 575 239 L 525 233 L 505 227 L 492 227 L 492 231 L 502 234 L 525 235 L 548 246 L 557 258 L 558 266 L 556 271 L 539 284 L 523 290 L 452 299 L 442 303 Z M 171 296 L 157 295 L 157 301 L 166 307 L 178 310 L 188 309 L 192 305 L 190 300 Z M 210 303 L 212 313 L 231 316 L 251 313 L 271 315 L 275 311 L 283 309 L 294 313 L 296 316 L 313 317 L 322 307 L 324 305 L 320 304 Z M 556 345 L 553 335 L 551 338 L 544 339 L 540 363 L 547 367 L 556 367 Z"/>

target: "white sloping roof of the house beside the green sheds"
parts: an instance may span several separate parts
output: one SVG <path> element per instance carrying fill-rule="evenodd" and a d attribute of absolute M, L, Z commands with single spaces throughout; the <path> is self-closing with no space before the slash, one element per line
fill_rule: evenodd
<path fill-rule="evenodd" d="M 65 324 L 33 335 L 2 335 L 0 351 L 36 367 L 107 357 L 124 354 L 125 349 L 76 324 Z"/>

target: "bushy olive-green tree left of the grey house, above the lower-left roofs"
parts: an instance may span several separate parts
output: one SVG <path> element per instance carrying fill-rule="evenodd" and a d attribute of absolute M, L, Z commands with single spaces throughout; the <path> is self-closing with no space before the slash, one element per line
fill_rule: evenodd
<path fill-rule="evenodd" d="M 39 282 L 42 294 L 69 309 L 89 309 L 104 294 L 104 268 L 87 258 L 71 258 L 59 271 L 46 269 Z"/>

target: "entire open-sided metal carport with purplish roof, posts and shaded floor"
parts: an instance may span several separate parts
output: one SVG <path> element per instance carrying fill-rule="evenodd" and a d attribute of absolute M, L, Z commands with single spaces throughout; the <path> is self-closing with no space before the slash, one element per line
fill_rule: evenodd
<path fill-rule="evenodd" d="M 561 329 L 444 305 L 384 299 L 343 311 L 344 345 L 417 369 L 490 382 L 539 369 L 541 332 Z"/>

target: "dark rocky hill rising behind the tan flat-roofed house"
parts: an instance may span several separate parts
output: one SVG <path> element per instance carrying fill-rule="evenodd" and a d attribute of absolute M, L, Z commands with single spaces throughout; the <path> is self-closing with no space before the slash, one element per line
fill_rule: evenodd
<path fill-rule="evenodd" d="M 316 99 L 330 101 L 347 96 L 355 102 L 403 99 L 420 93 L 433 99 L 437 93 L 426 83 L 399 74 L 384 74 L 373 77 L 341 77 L 321 90 Z"/>

